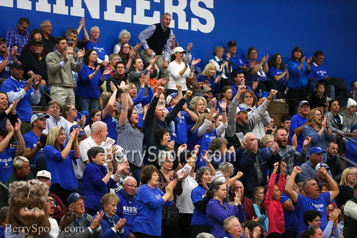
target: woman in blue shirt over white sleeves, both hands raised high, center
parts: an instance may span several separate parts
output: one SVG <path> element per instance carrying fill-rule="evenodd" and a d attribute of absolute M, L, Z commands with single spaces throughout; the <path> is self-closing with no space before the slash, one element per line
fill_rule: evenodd
<path fill-rule="evenodd" d="M 199 116 L 196 124 L 191 129 L 193 141 L 196 141 L 197 144 L 201 145 L 199 154 L 201 154 L 203 150 L 208 150 L 211 141 L 214 138 L 220 137 L 227 128 L 226 99 L 222 99 L 222 103 L 220 103 L 222 109 L 222 123 L 216 129 L 212 129 L 212 120 L 215 117 L 214 114 L 218 114 L 218 111 L 216 111 L 216 99 L 213 98 L 211 103 L 212 107 L 210 112 Z M 205 162 L 202 160 L 202 157 L 199 156 L 196 162 L 196 169 L 199 169 L 204 165 Z"/>

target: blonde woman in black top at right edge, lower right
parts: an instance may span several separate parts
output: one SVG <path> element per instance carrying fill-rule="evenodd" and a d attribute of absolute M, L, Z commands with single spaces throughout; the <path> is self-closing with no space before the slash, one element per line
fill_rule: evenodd
<path fill-rule="evenodd" d="M 340 192 L 338 195 L 339 207 L 344 205 L 348 200 L 353 197 L 353 186 L 356 183 L 357 174 L 353 168 L 347 168 L 342 172 L 341 182 L 340 182 Z"/>

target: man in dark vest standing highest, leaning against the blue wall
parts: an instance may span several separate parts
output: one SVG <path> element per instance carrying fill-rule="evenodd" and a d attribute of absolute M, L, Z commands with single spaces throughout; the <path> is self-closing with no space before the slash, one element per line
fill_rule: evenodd
<path fill-rule="evenodd" d="M 170 23 L 171 14 L 164 13 L 161 17 L 161 23 L 149 26 L 140 32 L 138 36 L 142 46 L 140 52 L 141 59 L 145 62 L 150 62 L 153 56 L 158 58 L 156 64 L 161 72 L 159 78 L 167 77 L 169 75 L 168 66 L 171 43 L 174 35 L 174 32 L 169 27 Z"/>

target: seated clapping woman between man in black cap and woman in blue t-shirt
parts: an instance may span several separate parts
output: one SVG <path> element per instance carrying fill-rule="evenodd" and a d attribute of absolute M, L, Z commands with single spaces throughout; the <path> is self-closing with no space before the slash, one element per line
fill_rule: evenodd
<path fill-rule="evenodd" d="M 248 49 L 248 58 L 246 63 L 249 67 L 249 72 L 258 77 L 258 90 L 270 91 L 277 90 L 277 84 L 275 80 L 268 77 L 269 66 L 268 66 L 268 54 L 264 56 L 260 62 L 257 60 L 258 52 L 255 47 L 250 47 Z M 255 78 L 253 79 L 256 80 Z"/>

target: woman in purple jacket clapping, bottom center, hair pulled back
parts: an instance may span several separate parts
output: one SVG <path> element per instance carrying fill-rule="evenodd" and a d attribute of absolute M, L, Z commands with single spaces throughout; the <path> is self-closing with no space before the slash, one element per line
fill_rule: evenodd
<path fill-rule="evenodd" d="M 211 184 L 207 204 L 207 218 L 211 226 L 210 234 L 214 237 L 224 237 L 223 222 L 230 216 L 243 216 L 245 218 L 243 205 L 240 202 L 240 194 L 236 192 L 234 205 L 231 206 L 224 200 L 227 197 L 227 185 L 221 181 L 215 181 Z"/>

